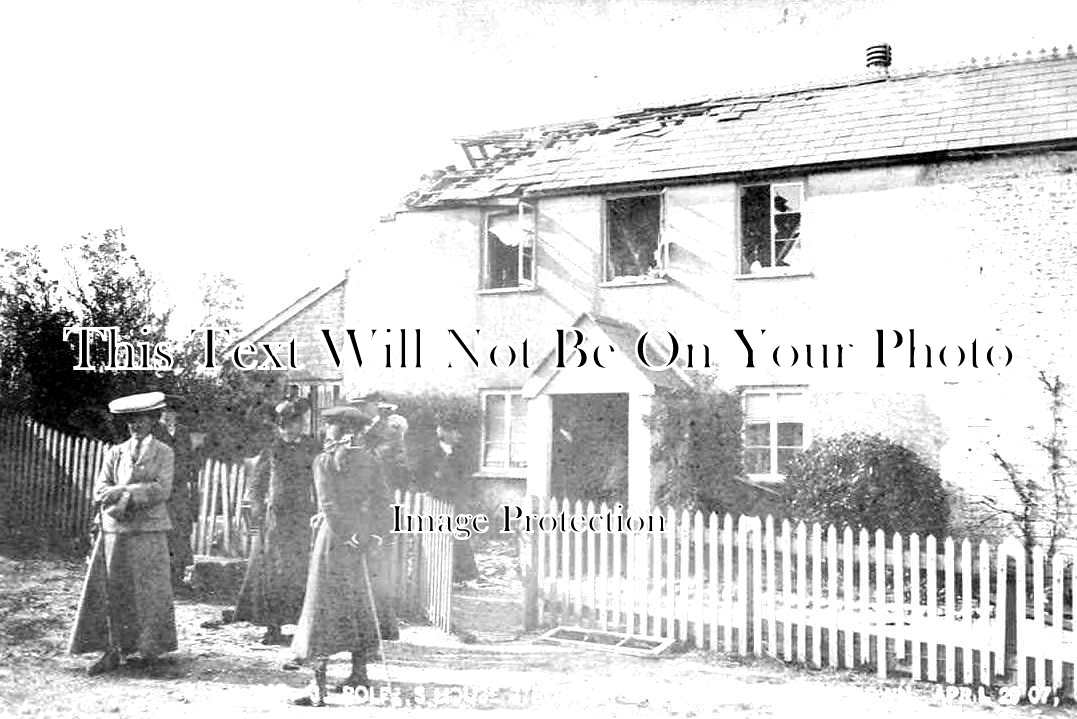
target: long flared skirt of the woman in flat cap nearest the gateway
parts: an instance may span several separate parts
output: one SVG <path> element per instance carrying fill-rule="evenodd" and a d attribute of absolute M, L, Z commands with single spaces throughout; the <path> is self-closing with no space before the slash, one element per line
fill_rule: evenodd
<path fill-rule="evenodd" d="M 364 553 L 335 537 L 328 523 L 314 536 L 292 651 L 298 659 L 353 651 L 374 658 L 378 628 L 370 606 L 373 591 Z"/>

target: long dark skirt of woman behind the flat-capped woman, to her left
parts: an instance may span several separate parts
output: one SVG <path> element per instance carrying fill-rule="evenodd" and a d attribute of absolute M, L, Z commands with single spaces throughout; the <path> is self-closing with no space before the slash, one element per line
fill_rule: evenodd
<path fill-rule="evenodd" d="M 236 601 L 236 621 L 263 626 L 293 624 L 303 610 L 310 556 L 306 514 L 278 517 L 270 511 L 262 540 L 251 552 Z"/>

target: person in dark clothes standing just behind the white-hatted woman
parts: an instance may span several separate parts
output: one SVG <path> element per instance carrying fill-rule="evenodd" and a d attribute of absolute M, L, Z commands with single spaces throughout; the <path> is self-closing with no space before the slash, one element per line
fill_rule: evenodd
<path fill-rule="evenodd" d="M 172 590 L 187 589 L 183 578 L 187 566 L 194 563 L 191 552 L 191 525 L 198 516 L 198 463 L 191 443 L 191 434 L 179 423 L 176 410 L 166 407 L 160 421 L 153 426 L 153 436 L 172 449 L 176 471 L 172 494 L 168 497 L 168 518 L 172 528 L 168 533 L 168 554 L 171 558 Z"/>

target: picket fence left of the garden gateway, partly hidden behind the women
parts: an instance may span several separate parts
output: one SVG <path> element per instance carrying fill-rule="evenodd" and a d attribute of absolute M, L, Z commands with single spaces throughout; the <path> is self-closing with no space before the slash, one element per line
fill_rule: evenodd
<path fill-rule="evenodd" d="M 59 537 L 88 537 L 94 480 L 108 448 L 25 417 L 0 414 L 0 502 L 6 502 L 6 521 Z M 253 460 L 202 464 L 198 517 L 192 527 L 195 554 L 247 556 L 250 534 L 240 503 L 252 469 Z M 405 513 L 453 512 L 451 505 L 428 494 L 397 492 L 395 503 Z M 452 546 L 451 535 L 443 533 L 395 535 L 380 560 L 397 610 L 424 617 L 445 631 L 451 625 Z"/>

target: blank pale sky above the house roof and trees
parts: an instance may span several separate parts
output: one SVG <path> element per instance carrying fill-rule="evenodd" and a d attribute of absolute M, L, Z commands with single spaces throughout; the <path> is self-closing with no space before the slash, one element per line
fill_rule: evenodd
<path fill-rule="evenodd" d="M 1068 0 L 0 3 L 0 246 L 123 227 L 176 323 L 361 257 L 453 137 L 1077 43 Z"/>

